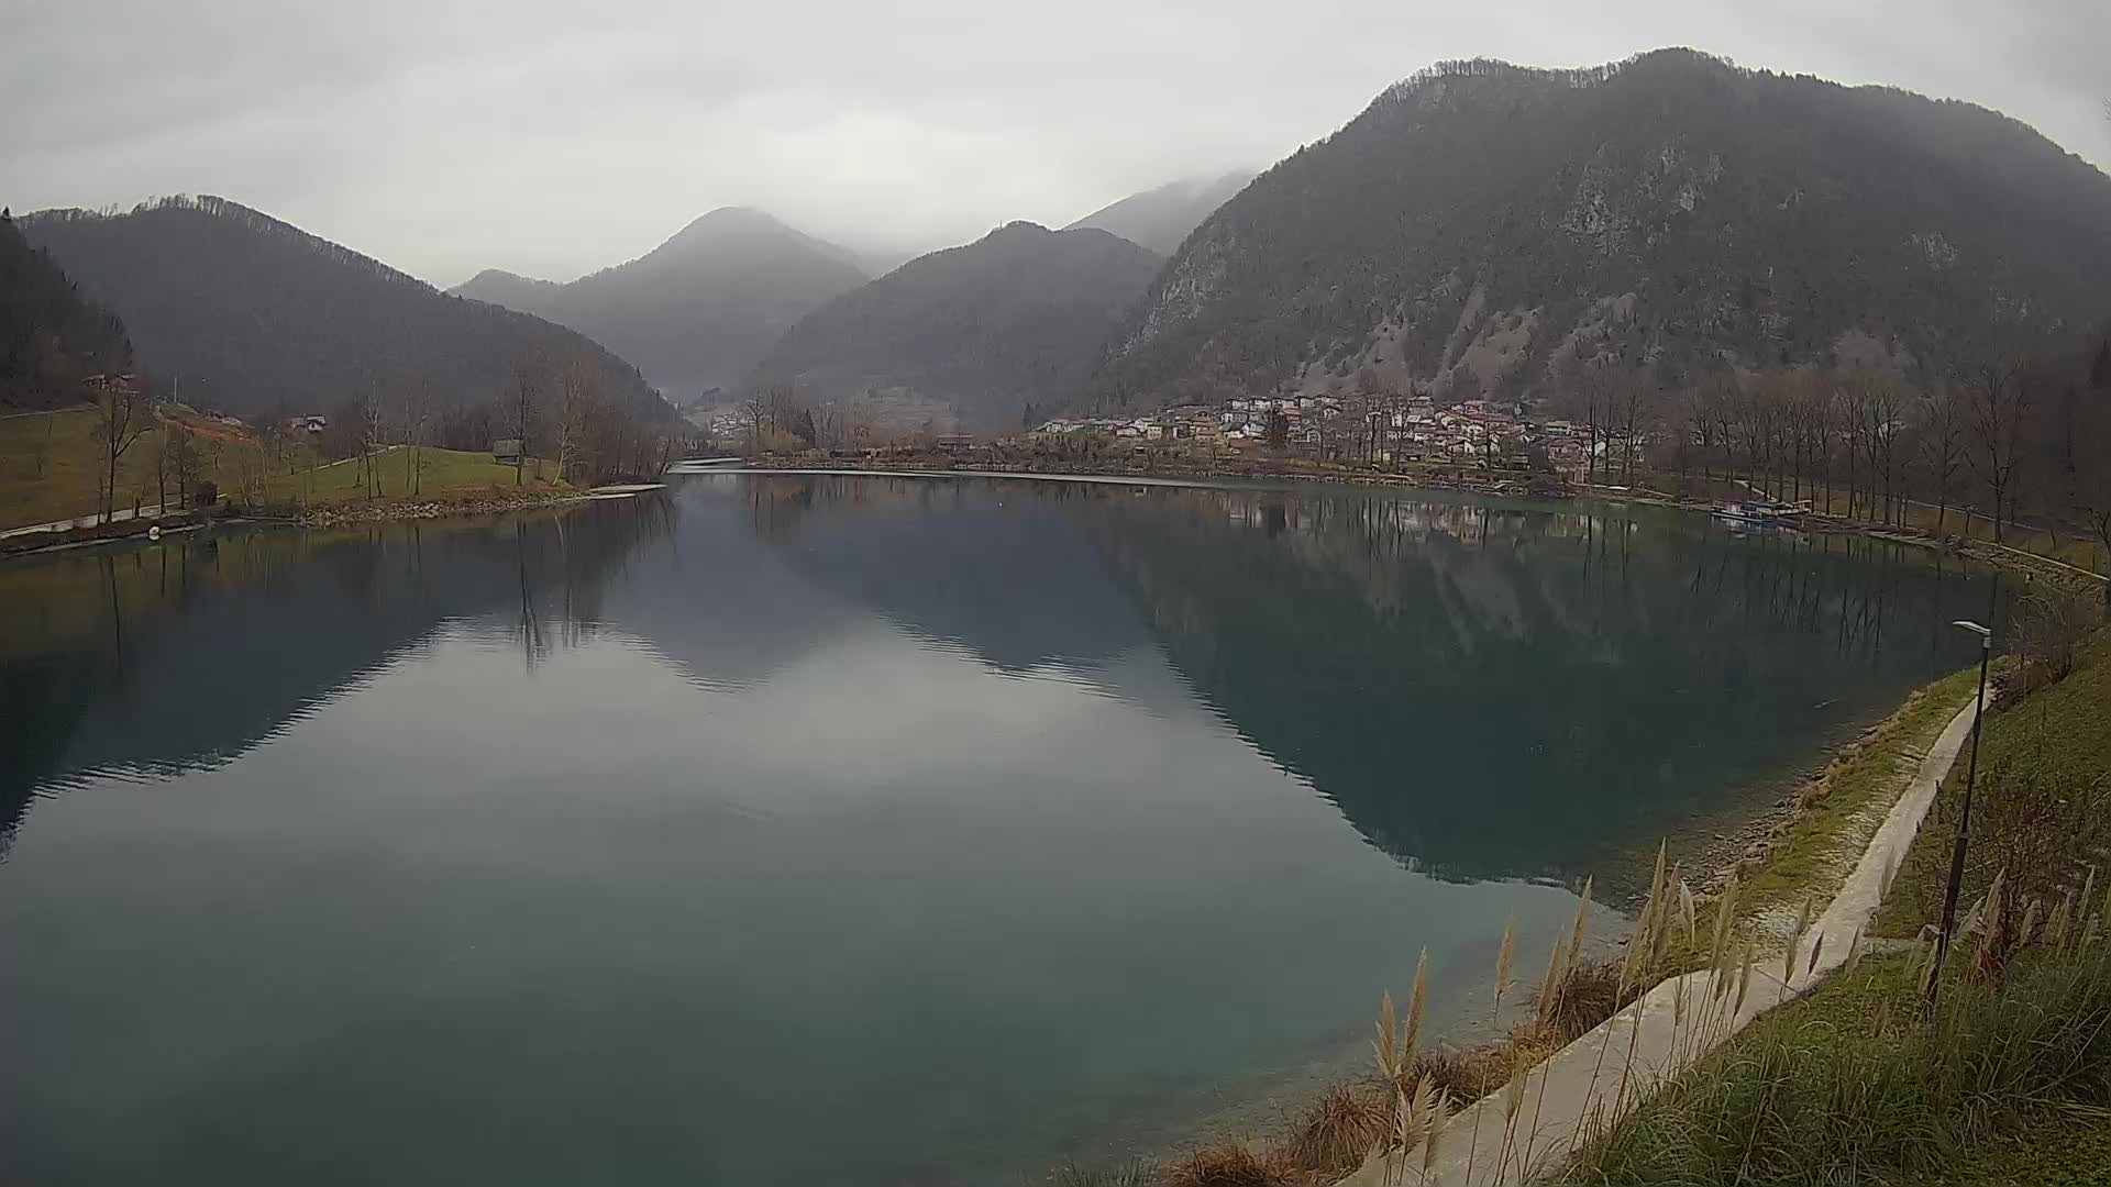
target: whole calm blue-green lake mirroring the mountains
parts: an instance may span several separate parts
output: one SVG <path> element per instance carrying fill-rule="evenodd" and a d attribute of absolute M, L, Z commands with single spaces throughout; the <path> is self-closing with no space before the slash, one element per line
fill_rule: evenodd
<path fill-rule="evenodd" d="M 1537 969 L 1986 598 L 1666 509 L 878 475 L 0 564 L 0 1179 L 1018 1183 L 1267 1126 L 1423 948 L 1471 1041 L 1505 919 Z"/>

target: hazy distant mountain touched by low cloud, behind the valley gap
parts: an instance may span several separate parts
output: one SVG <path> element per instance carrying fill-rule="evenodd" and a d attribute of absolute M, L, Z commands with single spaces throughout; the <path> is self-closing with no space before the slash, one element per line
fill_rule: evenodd
<path fill-rule="evenodd" d="M 861 283 L 847 247 L 726 207 L 566 285 L 488 270 L 452 291 L 570 325 L 669 395 L 695 395 L 730 389 L 794 321 Z"/>

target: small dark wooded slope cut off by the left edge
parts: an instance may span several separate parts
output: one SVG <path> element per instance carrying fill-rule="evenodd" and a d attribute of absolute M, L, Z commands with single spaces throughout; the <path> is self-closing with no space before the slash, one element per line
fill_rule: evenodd
<path fill-rule="evenodd" d="M 0 211 L 0 408 L 74 403 L 87 397 L 82 378 L 127 370 L 125 323 L 80 296 Z"/>

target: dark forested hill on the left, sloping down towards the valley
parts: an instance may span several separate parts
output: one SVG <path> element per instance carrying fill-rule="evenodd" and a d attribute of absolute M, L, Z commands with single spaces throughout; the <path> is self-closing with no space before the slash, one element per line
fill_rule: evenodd
<path fill-rule="evenodd" d="M 445 296 L 226 199 L 44 211 L 21 228 L 125 319 L 139 365 L 198 408 L 325 412 L 376 393 L 481 408 L 521 363 L 591 359 L 604 395 L 673 414 L 635 368 L 570 329 Z"/>

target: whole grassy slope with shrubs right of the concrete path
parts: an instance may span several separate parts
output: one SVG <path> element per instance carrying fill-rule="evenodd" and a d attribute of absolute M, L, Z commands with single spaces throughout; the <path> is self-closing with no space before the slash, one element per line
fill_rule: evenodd
<path fill-rule="evenodd" d="M 1974 781 L 1957 942 L 1929 965 L 1970 758 L 1872 927 L 1908 953 L 1758 1020 L 1573 1183 L 2100 1183 L 2111 1174 L 2111 632 L 2027 608 Z M 1934 980 L 1936 1007 L 1923 1001 Z"/>

